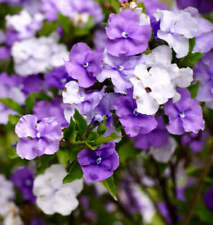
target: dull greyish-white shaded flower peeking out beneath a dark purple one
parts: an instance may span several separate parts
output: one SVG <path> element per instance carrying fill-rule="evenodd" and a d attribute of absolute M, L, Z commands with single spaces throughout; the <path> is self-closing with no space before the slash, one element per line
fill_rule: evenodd
<path fill-rule="evenodd" d="M 177 143 L 174 140 L 174 138 L 169 137 L 166 145 L 159 148 L 151 147 L 150 154 L 154 157 L 156 161 L 167 163 L 172 157 L 176 147 L 177 147 Z"/>

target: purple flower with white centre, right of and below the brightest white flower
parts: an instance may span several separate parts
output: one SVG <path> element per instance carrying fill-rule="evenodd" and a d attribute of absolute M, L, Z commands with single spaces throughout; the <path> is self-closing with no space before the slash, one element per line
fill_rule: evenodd
<path fill-rule="evenodd" d="M 187 89 L 178 89 L 181 99 L 173 103 L 169 100 L 164 105 L 164 112 L 169 117 L 167 129 L 172 134 L 184 134 L 184 132 L 198 133 L 204 129 L 202 108 L 199 102 L 191 99 Z"/>

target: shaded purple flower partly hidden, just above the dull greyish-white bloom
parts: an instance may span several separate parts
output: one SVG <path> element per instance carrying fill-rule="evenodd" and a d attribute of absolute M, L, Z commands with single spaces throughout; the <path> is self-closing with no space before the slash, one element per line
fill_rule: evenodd
<path fill-rule="evenodd" d="M 135 137 L 135 147 L 147 150 L 151 147 L 162 147 L 168 142 L 169 134 L 162 117 L 157 118 L 158 126 L 148 134 L 139 134 Z"/>

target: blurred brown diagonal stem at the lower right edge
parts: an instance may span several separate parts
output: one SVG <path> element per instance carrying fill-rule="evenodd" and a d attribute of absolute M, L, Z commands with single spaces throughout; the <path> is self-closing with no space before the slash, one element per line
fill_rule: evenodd
<path fill-rule="evenodd" d="M 203 170 L 202 170 L 201 175 L 199 177 L 197 187 L 196 187 L 195 192 L 194 192 L 194 196 L 193 196 L 191 204 L 190 204 L 190 206 L 189 206 L 189 208 L 186 212 L 186 216 L 183 220 L 182 225 L 189 225 L 190 224 L 191 218 L 193 216 L 193 211 L 196 207 L 198 199 L 200 198 L 202 186 L 203 186 L 205 177 L 208 174 L 209 169 L 211 167 L 212 160 L 213 160 L 213 140 L 211 142 L 210 150 L 209 150 L 209 152 L 207 154 L 207 157 L 206 157 L 206 160 L 204 162 L 204 167 L 203 167 Z"/>

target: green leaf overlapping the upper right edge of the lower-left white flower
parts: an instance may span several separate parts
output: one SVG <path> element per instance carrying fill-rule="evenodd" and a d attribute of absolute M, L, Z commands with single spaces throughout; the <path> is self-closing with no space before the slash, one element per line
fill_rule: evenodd
<path fill-rule="evenodd" d="M 82 177 L 83 172 L 81 170 L 81 166 L 77 162 L 73 162 L 68 175 L 63 179 L 63 183 L 70 183 L 76 179 L 81 179 Z"/>

